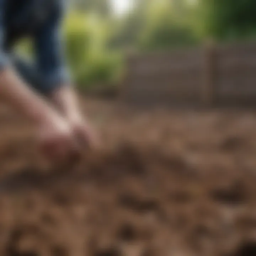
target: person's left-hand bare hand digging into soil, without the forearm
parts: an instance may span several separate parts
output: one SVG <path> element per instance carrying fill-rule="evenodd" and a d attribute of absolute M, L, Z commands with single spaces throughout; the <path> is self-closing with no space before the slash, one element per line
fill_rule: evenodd
<path fill-rule="evenodd" d="M 59 116 L 42 120 L 38 127 L 38 139 L 43 155 L 54 163 L 72 161 L 79 155 L 73 130 Z"/>

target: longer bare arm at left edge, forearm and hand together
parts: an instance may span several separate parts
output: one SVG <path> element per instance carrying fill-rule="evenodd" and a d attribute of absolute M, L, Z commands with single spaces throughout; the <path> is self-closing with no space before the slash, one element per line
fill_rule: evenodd
<path fill-rule="evenodd" d="M 39 145 L 49 160 L 77 155 L 68 123 L 9 68 L 0 71 L 0 97 L 37 126 Z"/>

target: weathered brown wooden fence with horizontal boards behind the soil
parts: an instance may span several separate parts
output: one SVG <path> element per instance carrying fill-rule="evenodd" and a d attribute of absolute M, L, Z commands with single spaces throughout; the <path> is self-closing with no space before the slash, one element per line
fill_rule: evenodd
<path fill-rule="evenodd" d="M 133 55 L 127 66 L 132 104 L 256 105 L 256 43 Z"/>

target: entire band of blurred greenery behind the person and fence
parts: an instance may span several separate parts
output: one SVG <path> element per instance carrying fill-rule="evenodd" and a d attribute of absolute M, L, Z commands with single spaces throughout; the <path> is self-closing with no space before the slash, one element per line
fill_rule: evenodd
<path fill-rule="evenodd" d="M 63 32 L 80 88 L 122 81 L 129 52 L 167 51 L 205 40 L 253 40 L 255 0 L 73 0 Z M 31 48 L 21 44 L 23 52 Z"/>

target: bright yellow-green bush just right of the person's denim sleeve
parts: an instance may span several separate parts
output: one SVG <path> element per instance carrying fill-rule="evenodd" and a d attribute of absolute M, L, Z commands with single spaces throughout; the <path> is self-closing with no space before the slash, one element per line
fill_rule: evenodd
<path fill-rule="evenodd" d="M 64 24 L 66 52 L 77 84 L 113 83 L 121 71 L 121 54 L 107 50 L 108 24 L 95 15 L 71 13 Z"/>

